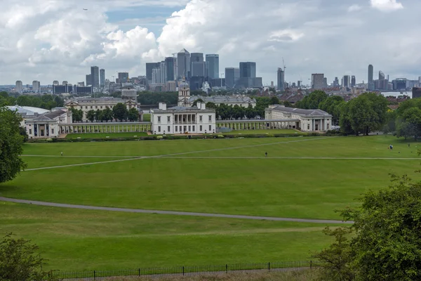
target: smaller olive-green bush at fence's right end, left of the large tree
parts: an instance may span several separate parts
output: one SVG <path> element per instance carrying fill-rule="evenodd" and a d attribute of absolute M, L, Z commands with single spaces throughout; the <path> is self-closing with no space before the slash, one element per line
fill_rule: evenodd
<path fill-rule="evenodd" d="M 352 268 L 352 247 L 348 239 L 352 228 L 325 228 L 325 235 L 335 237 L 335 242 L 327 249 L 323 249 L 314 255 L 314 258 L 323 261 L 320 280 L 329 281 L 352 281 L 355 273 Z"/>

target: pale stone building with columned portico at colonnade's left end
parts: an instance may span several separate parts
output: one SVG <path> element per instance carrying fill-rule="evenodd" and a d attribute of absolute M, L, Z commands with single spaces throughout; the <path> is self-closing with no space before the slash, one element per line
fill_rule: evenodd
<path fill-rule="evenodd" d="M 65 107 L 53 108 L 51 112 L 25 120 L 29 138 L 57 138 L 61 124 L 72 123 L 72 111 Z"/>

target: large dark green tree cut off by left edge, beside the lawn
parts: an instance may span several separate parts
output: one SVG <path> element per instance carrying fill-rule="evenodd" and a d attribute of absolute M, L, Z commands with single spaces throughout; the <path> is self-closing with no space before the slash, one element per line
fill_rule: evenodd
<path fill-rule="evenodd" d="M 0 183 L 13 180 L 26 167 L 20 158 L 24 141 L 20 135 L 21 121 L 16 112 L 0 107 Z"/>

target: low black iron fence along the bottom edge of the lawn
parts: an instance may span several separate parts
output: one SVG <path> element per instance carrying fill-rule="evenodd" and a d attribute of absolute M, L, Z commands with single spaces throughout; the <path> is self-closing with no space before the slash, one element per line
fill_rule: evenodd
<path fill-rule="evenodd" d="M 117 270 L 55 271 L 50 277 L 59 280 L 104 280 L 107 277 L 165 277 L 227 274 L 235 272 L 273 272 L 312 269 L 323 266 L 320 261 L 284 261 L 275 263 L 239 263 L 213 266 L 175 266 L 169 268 L 137 268 Z"/>

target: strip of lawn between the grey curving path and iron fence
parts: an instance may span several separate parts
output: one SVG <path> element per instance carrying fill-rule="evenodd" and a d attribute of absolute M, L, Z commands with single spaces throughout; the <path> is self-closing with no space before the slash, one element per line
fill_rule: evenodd
<path fill-rule="evenodd" d="M 0 235 L 31 239 L 48 269 L 104 270 L 307 261 L 323 225 L 128 214 L 0 202 Z"/>

